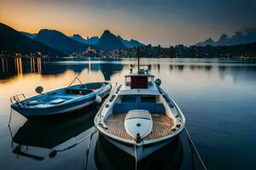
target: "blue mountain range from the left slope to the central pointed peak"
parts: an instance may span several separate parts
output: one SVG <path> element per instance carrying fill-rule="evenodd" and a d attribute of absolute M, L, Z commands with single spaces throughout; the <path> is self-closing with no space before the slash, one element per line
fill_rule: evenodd
<path fill-rule="evenodd" d="M 31 34 L 21 32 L 26 37 L 42 42 L 50 48 L 60 50 L 65 54 L 72 54 L 75 52 L 83 52 L 89 46 L 99 50 L 110 51 L 119 48 L 135 48 L 144 46 L 142 42 L 131 39 L 125 40 L 120 36 L 115 36 L 110 31 L 106 30 L 101 37 L 88 37 L 84 39 L 79 34 L 74 34 L 72 37 L 67 37 L 61 31 L 42 29 L 38 34 Z"/>

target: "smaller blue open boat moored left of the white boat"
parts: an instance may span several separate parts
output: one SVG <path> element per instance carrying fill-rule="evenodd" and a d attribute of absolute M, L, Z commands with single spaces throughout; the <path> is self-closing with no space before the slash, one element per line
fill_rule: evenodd
<path fill-rule="evenodd" d="M 79 82 L 78 85 L 71 83 L 67 88 L 44 94 L 41 94 L 44 88 L 38 87 L 36 91 L 39 95 L 29 99 L 26 99 L 24 94 L 15 95 L 10 99 L 11 108 L 26 118 L 67 114 L 94 103 L 101 103 L 112 89 L 110 82 Z M 25 99 L 20 100 L 20 95 Z"/>

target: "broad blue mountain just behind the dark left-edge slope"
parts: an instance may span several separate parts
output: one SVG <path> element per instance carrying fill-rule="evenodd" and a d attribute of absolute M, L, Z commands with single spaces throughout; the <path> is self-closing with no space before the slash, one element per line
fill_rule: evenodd
<path fill-rule="evenodd" d="M 83 52 L 89 47 L 87 44 L 73 40 L 71 37 L 67 37 L 60 31 L 55 30 L 40 30 L 34 39 L 65 54 Z"/>

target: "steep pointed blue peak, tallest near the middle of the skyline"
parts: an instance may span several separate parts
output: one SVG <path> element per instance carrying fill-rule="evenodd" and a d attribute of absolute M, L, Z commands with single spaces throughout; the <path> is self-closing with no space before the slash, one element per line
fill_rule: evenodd
<path fill-rule="evenodd" d="M 103 32 L 102 37 L 100 37 L 99 42 L 96 43 L 96 48 L 100 48 L 103 50 L 113 50 L 125 48 L 125 45 L 119 37 L 116 37 L 110 31 L 106 30 Z"/>

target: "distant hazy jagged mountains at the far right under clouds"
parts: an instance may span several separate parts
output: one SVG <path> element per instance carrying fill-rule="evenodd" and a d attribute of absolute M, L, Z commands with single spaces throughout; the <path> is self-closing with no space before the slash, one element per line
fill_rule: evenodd
<path fill-rule="evenodd" d="M 232 36 L 228 36 L 226 34 L 223 34 L 219 37 L 218 41 L 214 42 L 211 37 L 209 37 L 204 42 L 198 42 L 195 44 L 195 46 L 232 46 L 232 45 L 238 45 L 238 44 L 246 44 L 256 42 L 256 31 L 249 31 L 249 32 L 242 32 L 242 31 L 236 31 L 236 33 Z"/>

